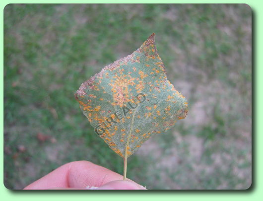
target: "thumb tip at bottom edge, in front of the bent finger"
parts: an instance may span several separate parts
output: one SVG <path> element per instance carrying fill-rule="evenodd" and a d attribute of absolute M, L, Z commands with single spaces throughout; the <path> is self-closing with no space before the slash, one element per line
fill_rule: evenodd
<path fill-rule="evenodd" d="M 135 182 L 116 180 L 96 188 L 96 190 L 146 190 L 143 186 Z"/>

